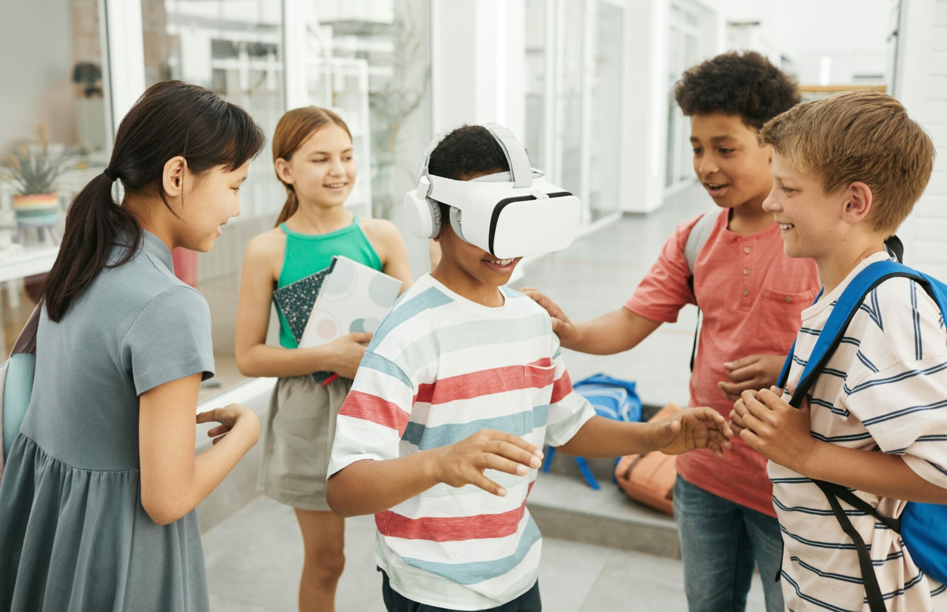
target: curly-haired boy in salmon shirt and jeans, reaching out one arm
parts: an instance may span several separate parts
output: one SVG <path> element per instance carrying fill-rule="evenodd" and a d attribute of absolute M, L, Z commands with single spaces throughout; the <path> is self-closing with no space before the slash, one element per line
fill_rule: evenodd
<path fill-rule="evenodd" d="M 725 53 L 690 68 L 675 98 L 690 117 L 694 172 L 720 207 L 688 270 L 684 249 L 700 217 L 678 225 L 627 303 L 612 313 L 571 322 L 533 289 L 553 318 L 562 346 L 612 354 L 637 346 L 687 304 L 703 311 L 690 376 L 690 405 L 724 416 L 745 389 L 775 384 L 819 288 L 811 260 L 783 252 L 779 227 L 762 208 L 772 188 L 772 152 L 759 145 L 763 123 L 799 101 L 795 82 L 759 53 Z M 692 289 L 691 289 L 692 287 Z M 724 459 L 696 451 L 677 459 L 674 517 L 684 558 L 690 612 L 743 610 L 759 566 L 767 612 L 783 610 L 774 582 L 781 536 L 766 459 L 734 441 Z"/>

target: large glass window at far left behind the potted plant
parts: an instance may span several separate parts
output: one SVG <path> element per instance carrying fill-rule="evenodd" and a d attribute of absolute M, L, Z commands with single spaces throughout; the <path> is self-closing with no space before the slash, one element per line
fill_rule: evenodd
<path fill-rule="evenodd" d="M 0 352 L 36 305 L 59 250 L 65 210 L 108 165 L 107 57 L 97 0 L 12 2 L 0 19 Z M 58 168 L 52 180 L 21 168 Z"/>

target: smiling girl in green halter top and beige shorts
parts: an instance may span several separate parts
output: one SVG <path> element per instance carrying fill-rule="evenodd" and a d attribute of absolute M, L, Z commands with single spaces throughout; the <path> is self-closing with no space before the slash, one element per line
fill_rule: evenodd
<path fill-rule="evenodd" d="M 293 507 L 299 521 L 305 549 L 300 611 L 331 611 L 345 530 L 343 519 L 326 503 L 326 473 L 335 417 L 371 334 L 349 333 L 321 347 L 299 349 L 279 313 L 279 346 L 267 345 L 273 292 L 329 267 L 334 255 L 402 280 L 402 291 L 411 285 L 410 267 L 393 224 L 345 207 L 357 169 L 341 117 L 315 107 L 290 111 L 277 124 L 273 159 L 286 205 L 277 226 L 250 241 L 243 258 L 237 365 L 246 376 L 278 379 L 263 438 L 259 488 Z M 326 372 L 339 376 L 328 379 Z"/>

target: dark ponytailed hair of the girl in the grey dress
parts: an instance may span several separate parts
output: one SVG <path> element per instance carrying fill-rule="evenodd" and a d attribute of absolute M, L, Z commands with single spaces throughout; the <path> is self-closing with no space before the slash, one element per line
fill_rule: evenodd
<path fill-rule="evenodd" d="M 157 193 L 171 210 L 161 186 L 171 157 L 182 155 L 188 171 L 198 176 L 219 166 L 235 171 L 256 157 L 265 140 L 240 106 L 204 87 L 162 81 L 142 94 L 121 120 L 108 171 L 126 193 Z M 112 248 L 124 234 L 129 248 L 110 263 Z M 43 285 L 49 318 L 60 321 L 102 268 L 132 260 L 142 238 L 134 213 L 113 200 L 112 178 L 102 172 L 89 181 L 69 207 L 63 243 Z"/>

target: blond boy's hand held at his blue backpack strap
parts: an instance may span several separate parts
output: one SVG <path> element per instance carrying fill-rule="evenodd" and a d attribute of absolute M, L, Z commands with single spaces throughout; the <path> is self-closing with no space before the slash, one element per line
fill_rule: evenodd
<path fill-rule="evenodd" d="M 802 474 L 797 466 L 804 464 L 815 447 L 809 400 L 794 408 L 783 402 L 778 392 L 777 387 L 743 392 L 742 422 L 746 428 L 740 437 L 766 459 Z"/>

